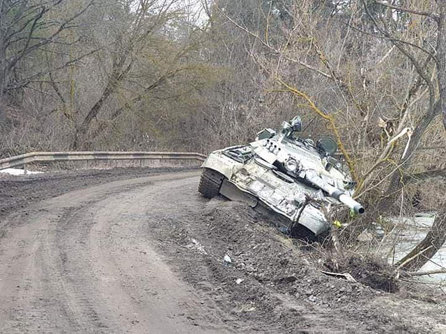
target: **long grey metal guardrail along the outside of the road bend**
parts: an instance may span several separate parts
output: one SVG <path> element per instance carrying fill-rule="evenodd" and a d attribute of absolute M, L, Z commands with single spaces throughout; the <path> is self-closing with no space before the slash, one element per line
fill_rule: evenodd
<path fill-rule="evenodd" d="M 33 162 L 98 161 L 98 160 L 195 160 L 204 161 L 206 156 L 187 152 L 31 152 L 0 159 L 0 170 L 26 166 Z"/>

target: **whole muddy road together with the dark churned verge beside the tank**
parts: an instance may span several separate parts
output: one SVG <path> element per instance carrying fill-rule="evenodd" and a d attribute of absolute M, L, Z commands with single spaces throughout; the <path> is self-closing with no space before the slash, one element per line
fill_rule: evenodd
<path fill-rule="evenodd" d="M 324 276 L 197 170 L 86 176 L 0 180 L 36 193 L 3 204 L 0 333 L 446 333 L 441 294 Z"/>

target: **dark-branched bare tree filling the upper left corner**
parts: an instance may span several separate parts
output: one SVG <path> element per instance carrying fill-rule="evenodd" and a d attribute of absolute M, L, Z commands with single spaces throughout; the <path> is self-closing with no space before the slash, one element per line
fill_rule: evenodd
<path fill-rule="evenodd" d="M 3 0 L 0 2 L 0 95 L 12 94 L 29 86 L 45 74 L 69 63 L 55 67 L 32 66 L 32 59 L 45 53 L 50 45 L 67 44 L 63 33 L 79 26 L 79 18 L 95 0 L 75 4 L 67 0 Z M 54 13 L 69 8 L 66 17 Z M 72 41 L 75 44 L 77 41 Z M 78 61 L 72 59 L 70 63 Z"/>

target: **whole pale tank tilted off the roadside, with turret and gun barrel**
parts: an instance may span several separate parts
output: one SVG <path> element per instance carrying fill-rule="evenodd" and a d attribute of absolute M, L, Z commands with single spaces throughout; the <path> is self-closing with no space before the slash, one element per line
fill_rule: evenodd
<path fill-rule="evenodd" d="M 304 138 L 301 129 L 296 116 L 280 129 L 263 129 L 248 145 L 211 152 L 201 166 L 199 192 L 246 202 L 284 232 L 307 239 L 330 230 L 327 216 L 337 205 L 363 214 L 336 142 Z"/>

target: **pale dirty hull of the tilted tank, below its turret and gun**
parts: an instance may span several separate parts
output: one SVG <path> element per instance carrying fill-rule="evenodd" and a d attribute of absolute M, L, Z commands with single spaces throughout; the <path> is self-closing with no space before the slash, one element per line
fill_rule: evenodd
<path fill-rule="evenodd" d="M 233 161 L 222 154 L 223 151 L 211 153 L 201 167 L 224 175 L 220 188 L 220 194 L 224 197 L 247 203 L 272 218 L 280 230 L 293 237 L 312 239 L 330 229 L 318 208 L 307 205 L 300 212 L 300 202 L 295 198 L 302 198 L 302 193 L 308 190 L 307 186 L 277 177 L 273 169 L 262 166 L 254 159 L 247 164 Z"/>

